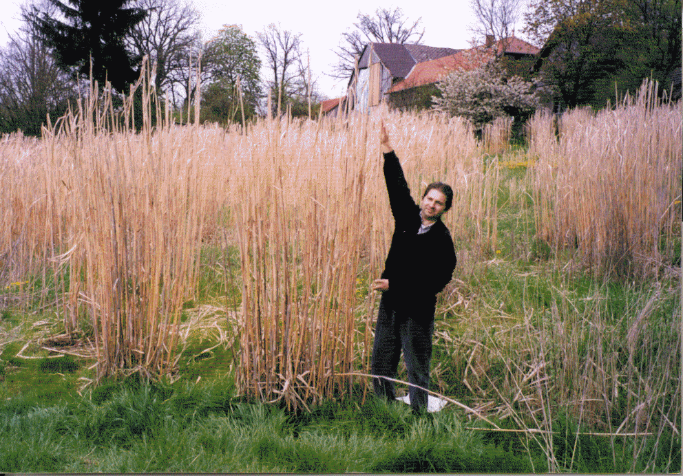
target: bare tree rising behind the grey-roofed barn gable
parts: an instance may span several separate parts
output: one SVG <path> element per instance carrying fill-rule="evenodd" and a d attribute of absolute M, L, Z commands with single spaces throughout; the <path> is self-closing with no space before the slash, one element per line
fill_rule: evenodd
<path fill-rule="evenodd" d="M 333 66 L 330 76 L 333 78 L 348 78 L 355 69 L 356 58 L 361 54 L 368 43 L 413 43 L 418 45 L 422 41 L 425 31 L 419 30 L 422 21 L 420 17 L 412 25 L 407 19 L 403 19 L 403 11 L 400 8 L 387 10 L 378 8 L 375 16 L 358 14 L 358 22 L 354 23 L 355 29 L 342 33 L 339 42 L 337 64 Z"/>

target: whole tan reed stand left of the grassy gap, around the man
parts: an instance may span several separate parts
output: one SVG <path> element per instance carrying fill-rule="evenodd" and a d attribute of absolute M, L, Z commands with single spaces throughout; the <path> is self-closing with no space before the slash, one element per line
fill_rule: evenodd
<path fill-rule="evenodd" d="M 99 375 L 136 365 L 167 371 L 179 306 L 196 279 L 198 240 L 234 226 L 244 388 L 297 404 L 348 392 L 350 380 L 335 375 L 355 369 L 359 354 L 368 365 L 376 304 L 371 293 L 359 307 L 356 280 L 360 270 L 379 276 L 392 233 L 379 116 L 260 120 L 227 131 L 143 124 L 132 134 L 108 118 L 106 96 L 95 98 L 46 131 L 41 147 L 3 142 L 17 148 L 13 157 L 30 150 L 35 164 L 3 169 L 3 180 L 18 184 L 4 220 L 34 202 L 40 210 L 26 215 L 23 235 L 12 223 L 2 239 L 4 250 L 14 247 L 7 262 L 42 254 L 54 258 L 56 274 L 69 273 L 59 290 L 65 328 L 92 321 Z M 467 238 L 472 221 L 476 241 L 491 246 L 495 200 L 486 188 L 497 179 L 495 168 L 483 169 L 471 131 L 457 119 L 383 113 L 415 197 L 432 180 L 450 182 L 448 226 Z M 157 117 L 168 114 L 158 109 Z M 129 112 L 124 121 L 132 122 Z M 98 129 L 104 125 L 109 132 Z M 46 199 L 29 182 L 44 183 Z M 231 221 L 202 230 L 224 206 Z"/>

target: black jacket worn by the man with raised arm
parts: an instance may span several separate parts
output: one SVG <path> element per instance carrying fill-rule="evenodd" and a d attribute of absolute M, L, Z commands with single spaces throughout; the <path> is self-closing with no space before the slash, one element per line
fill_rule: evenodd
<path fill-rule="evenodd" d="M 393 151 L 384 154 L 384 179 L 395 220 L 381 276 L 389 280 L 386 297 L 396 310 L 433 316 L 437 294 L 450 282 L 455 269 L 450 231 L 438 220 L 428 232 L 417 234 L 422 224 L 420 207 L 410 196 L 401 163 Z"/>

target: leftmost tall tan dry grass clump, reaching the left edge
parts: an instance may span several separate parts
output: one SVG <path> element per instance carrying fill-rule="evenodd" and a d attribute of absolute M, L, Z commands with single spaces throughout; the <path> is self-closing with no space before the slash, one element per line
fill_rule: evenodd
<path fill-rule="evenodd" d="M 111 96 L 91 91 L 39 142 L 3 139 L 3 278 L 42 277 L 45 296 L 55 294 L 41 305 L 65 332 L 90 329 L 98 378 L 172 371 L 182 303 L 196 287 L 210 179 L 198 128 L 171 129 L 166 113 L 152 131 L 146 104 L 140 133 L 116 122 Z"/>

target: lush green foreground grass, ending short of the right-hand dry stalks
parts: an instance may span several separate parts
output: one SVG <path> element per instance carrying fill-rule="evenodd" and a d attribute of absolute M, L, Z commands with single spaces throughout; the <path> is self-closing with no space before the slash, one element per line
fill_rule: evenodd
<path fill-rule="evenodd" d="M 372 398 L 295 414 L 209 385 L 128 382 L 93 395 L 22 409 L 0 402 L 0 470 L 342 473 L 393 471 L 399 461 L 406 471 L 456 470 L 487 454 L 454 411 L 419 418 L 408 405 Z M 496 452 L 507 461 L 518 457 Z M 493 468 L 487 464 L 480 467 Z"/>

